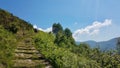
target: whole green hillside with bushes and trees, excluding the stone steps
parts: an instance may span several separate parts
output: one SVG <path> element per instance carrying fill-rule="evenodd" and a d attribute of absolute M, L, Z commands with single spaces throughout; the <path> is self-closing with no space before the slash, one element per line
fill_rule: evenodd
<path fill-rule="evenodd" d="M 71 30 L 63 29 L 60 23 L 54 23 L 52 32 L 46 33 L 0 9 L 0 67 L 14 67 L 15 62 L 12 60 L 15 59 L 14 52 L 19 43 L 24 47 L 35 47 L 42 59 L 51 65 L 49 68 L 120 68 L 119 40 L 115 50 L 100 51 L 99 48 L 90 48 L 84 43 L 77 45 Z M 27 68 L 27 64 L 24 65 Z M 40 62 L 36 68 L 41 67 L 45 68 L 44 62 Z"/>

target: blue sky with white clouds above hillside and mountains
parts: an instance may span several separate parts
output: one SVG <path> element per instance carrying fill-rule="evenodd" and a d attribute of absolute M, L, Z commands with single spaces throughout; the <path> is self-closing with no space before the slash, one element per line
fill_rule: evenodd
<path fill-rule="evenodd" d="M 0 8 L 45 32 L 60 23 L 76 41 L 120 37 L 120 0 L 0 0 Z"/>

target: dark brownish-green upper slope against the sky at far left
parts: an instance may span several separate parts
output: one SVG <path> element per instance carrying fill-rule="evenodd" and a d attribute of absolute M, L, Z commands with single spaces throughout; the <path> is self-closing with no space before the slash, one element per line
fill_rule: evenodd
<path fill-rule="evenodd" d="M 33 26 L 20 18 L 13 16 L 13 14 L 0 9 L 0 25 L 10 32 L 17 33 L 19 31 L 32 30 Z"/>

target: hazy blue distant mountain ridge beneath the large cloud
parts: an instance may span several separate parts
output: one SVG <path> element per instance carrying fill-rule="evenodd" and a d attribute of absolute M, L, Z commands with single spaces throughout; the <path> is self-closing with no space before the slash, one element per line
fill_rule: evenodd
<path fill-rule="evenodd" d="M 76 42 L 76 44 L 86 43 L 86 44 L 90 45 L 91 48 L 100 47 L 101 50 L 109 50 L 109 49 L 116 48 L 118 39 L 120 39 L 120 37 L 113 38 L 108 41 L 96 42 L 96 41 L 89 40 L 89 41 L 85 41 L 85 42 Z"/>

